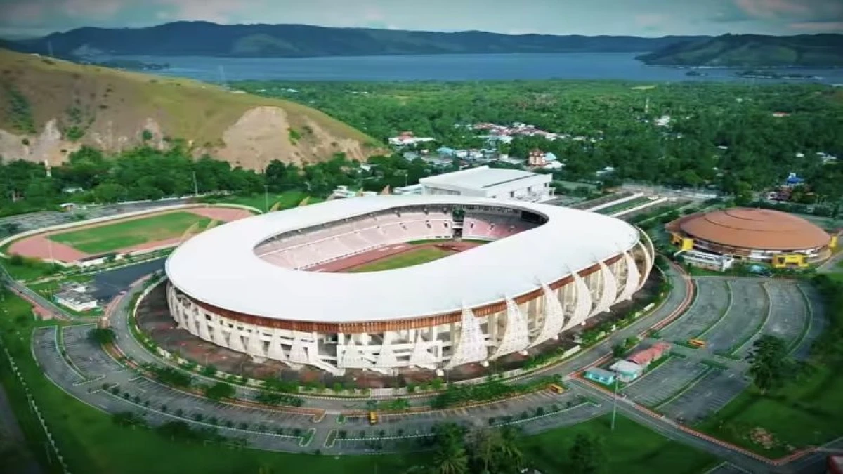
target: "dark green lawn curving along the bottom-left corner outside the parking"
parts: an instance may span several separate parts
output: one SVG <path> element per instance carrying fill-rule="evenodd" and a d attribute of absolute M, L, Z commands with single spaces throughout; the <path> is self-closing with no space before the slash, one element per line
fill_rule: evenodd
<path fill-rule="evenodd" d="M 24 379 L 33 392 L 46 423 L 70 471 L 89 474 L 309 474 L 401 472 L 416 460 L 415 455 L 333 456 L 294 455 L 260 450 L 236 450 L 221 446 L 203 446 L 164 439 L 147 429 L 120 428 L 109 415 L 84 405 L 52 385 L 41 373 L 30 353 L 30 337 L 35 326 L 54 324 L 35 322 L 30 306 L 22 299 L 5 294 L 0 310 L 0 337 L 15 358 Z M 13 412 L 30 441 L 33 452 L 43 457 L 43 432 L 30 412 L 19 382 L 13 378 L 5 357 L 0 357 L 0 381 Z M 313 446 L 317 449 L 318 446 Z M 46 472 L 58 472 L 56 466 Z"/>

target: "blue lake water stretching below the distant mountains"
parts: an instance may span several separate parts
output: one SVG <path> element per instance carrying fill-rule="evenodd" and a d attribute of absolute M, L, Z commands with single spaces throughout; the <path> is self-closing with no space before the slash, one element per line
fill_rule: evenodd
<path fill-rule="evenodd" d="M 287 81 L 468 81 L 516 79 L 623 79 L 631 81 L 751 81 L 797 80 L 736 78 L 735 69 L 701 69 L 706 77 L 685 76 L 687 69 L 650 67 L 633 53 L 460 54 L 426 56 L 242 58 L 126 57 L 142 62 L 169 63 L 156 74 L 203 81 L 277 79 Z M 843 68 L 789 69 L 821 77 L 823 83 L 843 83 Z M 805 81 L 803 81 L 805 82 Z"/>

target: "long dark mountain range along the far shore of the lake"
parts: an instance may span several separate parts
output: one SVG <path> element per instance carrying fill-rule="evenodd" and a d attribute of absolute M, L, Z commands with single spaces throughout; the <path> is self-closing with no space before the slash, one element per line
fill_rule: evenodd
<path fill-rule="evenodd" d="M 213 57 L 319 57 L 516 52 L 641 52 L 705 37 L 501 35 L 327 28 L 305 24 L 176 22 L 148 28 L 80 28 L 21 41 L 21 47 L 79 53 Z"/>

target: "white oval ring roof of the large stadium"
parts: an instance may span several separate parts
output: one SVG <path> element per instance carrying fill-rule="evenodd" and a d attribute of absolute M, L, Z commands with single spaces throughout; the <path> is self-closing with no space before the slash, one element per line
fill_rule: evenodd
<path fill-rule="evenodd" d="M 273 235 L 414 205 L 486 205 L 544 214 L 546 224 L 415 267 L 308 272 L 255 256 Z M 167 260 L 170 281 L 207 304 L 281 320 L 362 322 L 437 315 L 514 298 L 593 266 L 638 242 L 615 218 L 568 207 L 476 197 L 373 196 L 244 218 L 198 234 Z"/>

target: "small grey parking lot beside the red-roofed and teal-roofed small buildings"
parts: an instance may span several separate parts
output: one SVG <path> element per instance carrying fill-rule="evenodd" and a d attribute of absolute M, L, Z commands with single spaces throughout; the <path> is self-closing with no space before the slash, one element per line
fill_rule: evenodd
<path fill-rule="evenodd" d="M 655 407 L 675 396 L 706 369 L 705 365 L 698 364 L 695 360 L 671 357 L 652 372 L 627 385 L 622 393 L 642 405 Z"/>

